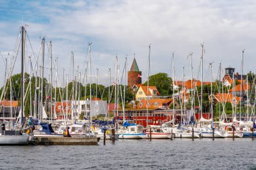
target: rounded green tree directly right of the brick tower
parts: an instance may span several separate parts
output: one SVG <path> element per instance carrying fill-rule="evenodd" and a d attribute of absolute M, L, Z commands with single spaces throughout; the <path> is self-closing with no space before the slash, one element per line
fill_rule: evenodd
<path fill-rule="evenodd" d="M 143 85 L 147 85 L 146 81 Z M 156 86 L 161 95 L 172 94 L 172 79 L 168 77 L 167 73 L 157 73 L 156 75 L 150 76 L 150 86 Z"/>

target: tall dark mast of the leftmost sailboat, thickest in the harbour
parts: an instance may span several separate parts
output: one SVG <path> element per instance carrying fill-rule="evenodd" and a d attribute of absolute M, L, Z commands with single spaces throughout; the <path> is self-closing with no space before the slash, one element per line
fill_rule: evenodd
<path fill-rule="evenodd" d="M 24 26 L 22 26 L 22 90 L 21 90 L 21 118 L 20 118 L 20 126 L 23 123 L 23 114 L 24 114 L 24 62 L 25 62 L 25 38 L 26 38 L 26 30 Z"/>

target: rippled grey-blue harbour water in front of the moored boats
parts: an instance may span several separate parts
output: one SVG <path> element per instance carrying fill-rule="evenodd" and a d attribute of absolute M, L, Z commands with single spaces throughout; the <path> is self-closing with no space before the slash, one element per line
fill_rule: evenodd
<path fill-rule="evenodd" d="M 0 169 L 256 169 L 256 140 L 102 140 L 98 146 L 0 146 Z"/>

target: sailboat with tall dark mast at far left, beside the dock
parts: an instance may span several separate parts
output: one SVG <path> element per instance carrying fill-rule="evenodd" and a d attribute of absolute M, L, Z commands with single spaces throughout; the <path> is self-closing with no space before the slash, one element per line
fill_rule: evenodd
<path fill-rule="evenodd" d="M 22 133 L 23 131 L 23 114 L 24 114 L 24 58 L 25 58 L 25 38 L 26 30 L 24 26 L 21 29 L 22 34 L 22 90 L 21 90 L 21 112 L 20 112 L 20 126 L 21 130 L 5 130 L 4 124 L 2 124 L 0 133 L 0 145 L 26 145 L 28 144 L 28 134 Z"/>

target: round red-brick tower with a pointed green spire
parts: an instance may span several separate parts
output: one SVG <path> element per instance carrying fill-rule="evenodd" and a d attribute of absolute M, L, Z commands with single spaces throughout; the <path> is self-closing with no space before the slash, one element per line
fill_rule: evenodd
<path fill-rule="evenodd" d="M 128 86 L 131 88 L 133 85 L 138 84 L 141 84 L 141 71 L 139 71 L 139 67 L 137 66 L 137 62 L 134 58 L 131 69 L 128 71 Z"/>

